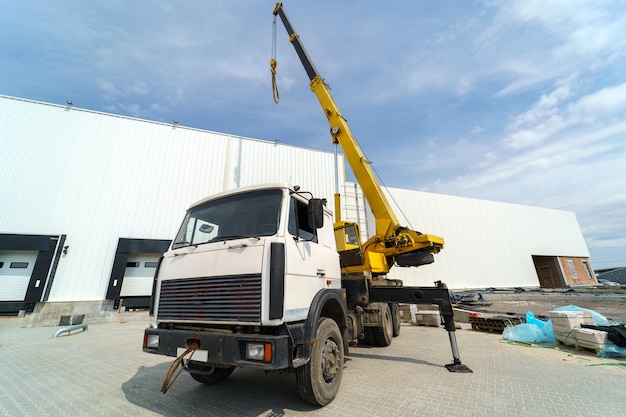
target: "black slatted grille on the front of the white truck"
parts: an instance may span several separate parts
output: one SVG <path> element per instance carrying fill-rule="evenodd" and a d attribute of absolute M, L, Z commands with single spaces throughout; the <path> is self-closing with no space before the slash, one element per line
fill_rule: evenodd
<path fill-rule="evenodd" d="M 158 319 L 258 323 L 261 275 L 163 281 Z"/>

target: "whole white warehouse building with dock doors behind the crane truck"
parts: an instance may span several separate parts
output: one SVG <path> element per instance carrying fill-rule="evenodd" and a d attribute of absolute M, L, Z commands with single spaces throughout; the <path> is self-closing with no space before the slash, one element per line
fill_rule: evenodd
<path fill-rule="evenodd" d="M 1 95 L 0 161 L 0 315 L 30 325 L 144 308 L 160 255 L 201 198 L 268 182 L 329 201 L 335 192 L 330 152 Z M 344 217 L 367 233 L 358 185 L 340 183 Z M 407 225 L 446 241 L 434 264 L 392 268 L 405 285 L 596 283 L 572 212 L 388 193 Z"/>

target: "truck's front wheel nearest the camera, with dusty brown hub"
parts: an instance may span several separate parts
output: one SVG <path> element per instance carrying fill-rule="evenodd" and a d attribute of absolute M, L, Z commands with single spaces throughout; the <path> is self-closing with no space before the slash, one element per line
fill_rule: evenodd
<path fill-rule="evenodd" d="M 318 406 L 329 404 L 337 395 L 343 375 L 343 339 L 334 320 L 322 318 L 311 349 L 311 360 L 296 368 L 300 397 Z"/>

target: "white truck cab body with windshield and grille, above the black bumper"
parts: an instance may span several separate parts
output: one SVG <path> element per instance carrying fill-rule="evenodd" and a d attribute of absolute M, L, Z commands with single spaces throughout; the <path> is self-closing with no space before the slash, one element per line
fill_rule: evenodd
<path fill-rule="evenodd" d="M 284 184 L 193 204 L 156 281 L 160 322 L 277 326 L 305 320 L 315 294 L 341 288 L 332 215 L 308 223 L 308 199 Z"/>

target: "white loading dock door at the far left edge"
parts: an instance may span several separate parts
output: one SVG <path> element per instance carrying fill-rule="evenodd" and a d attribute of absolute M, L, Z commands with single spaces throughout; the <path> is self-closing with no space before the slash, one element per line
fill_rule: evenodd
<path fill-rule="evenodd" d="M 38 253 L 0 251 L 0 301 L 24 301 Z"/>

